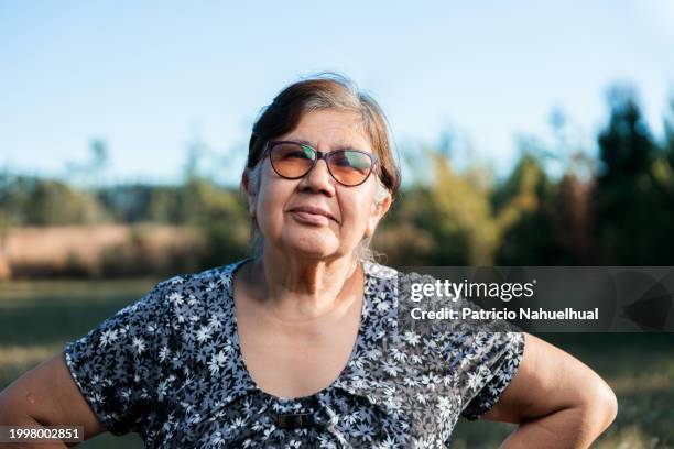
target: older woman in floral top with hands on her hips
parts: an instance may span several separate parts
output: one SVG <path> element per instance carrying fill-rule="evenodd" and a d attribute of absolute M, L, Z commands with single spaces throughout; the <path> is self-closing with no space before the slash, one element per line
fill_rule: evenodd
<path fill-rule="evenodd" d="M 368 243 L 400 176 L 350 81 L 285 88 L 242 184 L 254 258 L 160 283 L 6 390 L 0 424 L 151 448 L 435 448 L 463 415 L 518 423 L 503 447 L 580 448 L 612 421 L 607 384 L 531 335 L 398 329 L 395 272 Z"/>

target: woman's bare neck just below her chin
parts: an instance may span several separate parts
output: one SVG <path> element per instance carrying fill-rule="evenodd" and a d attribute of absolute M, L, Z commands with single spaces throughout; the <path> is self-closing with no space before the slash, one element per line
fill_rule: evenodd
<path fill-rule="evenodd" d="M 249 273 L 256 298 L 282 321 L 340 314 L 362 296 L 363 273 L 355 256 L 297 260 L 265 249 Z"/>

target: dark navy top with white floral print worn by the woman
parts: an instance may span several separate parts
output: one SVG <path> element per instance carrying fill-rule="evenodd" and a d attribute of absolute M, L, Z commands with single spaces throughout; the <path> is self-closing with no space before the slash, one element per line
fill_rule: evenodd
<path fill-rule="evenodd" d="M 108 431 L 138 432 L 148 448 L 443 448 L 459 416 L 491 408 L 521 361 L 521 332 L 399 329 L 396 272 L 366 262 L 341 373 L 311 396 L 273 396 L 239 350 L 232 277 L 244 262 L 164 281 L 66 344 Z"/>

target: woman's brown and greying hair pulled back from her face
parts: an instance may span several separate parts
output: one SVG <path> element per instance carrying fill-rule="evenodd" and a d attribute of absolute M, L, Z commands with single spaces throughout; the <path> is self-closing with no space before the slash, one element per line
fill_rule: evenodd
<path fill-rule="evenodd" d="M 256 189 L 259 185 L 259 163 L 267 143 L 294 130 L 305 114 L 326 109 L 350 111 L 360 116 L 372 153 L 379 160 L 377 171 L 373 172 L 378 178 L 376 201 L 381 202 L 387 195 L 395 198 L 401 179 L 391 149 L 387 118 L 372 97 L 360 91 L 348 77 L 335 73 L 322 73 L 293 83 L 262 109 L 252 128 L 246 162 L 246 172 Z M 261 232 L 254 218 L 252 221 L 251 244 L 253 254 L 259 255 Z M 363 239 L 359 245 L 360 259 L 373 259 L 369 240 Z"/>

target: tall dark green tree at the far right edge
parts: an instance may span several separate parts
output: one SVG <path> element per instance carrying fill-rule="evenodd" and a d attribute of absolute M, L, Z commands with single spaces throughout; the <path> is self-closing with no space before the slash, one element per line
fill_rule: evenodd
<path fill-rule="evenodd" d="M 665 154 L 651 136 L 632 88 L 613 87 L 608 99 L 609 122 L 598 138 L 602 169 L 593 195 L 602 262 L 671 264 L 672 172 Z"/>

